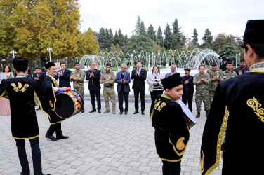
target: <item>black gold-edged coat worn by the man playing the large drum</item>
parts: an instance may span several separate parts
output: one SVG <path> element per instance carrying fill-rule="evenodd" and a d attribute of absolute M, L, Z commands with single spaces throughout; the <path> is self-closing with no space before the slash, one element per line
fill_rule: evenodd
<path fill-rule="evenodd" d="M 42 95 L 39 96 L 39 100 L 41 102 L 41 110 L 46 113 L 48 116 L 51 125 L 60 123 L 64 118 L 60 118 L 56 113 L 55 113 L 55 104 L 56 104 L 56 97 L 55 97 L 55 92 L 53 90 L 53 87 L 58 87 L 58 83 L 51 76 L 51 74 L 46 73 L 46 76 L 42 80 Z"/>

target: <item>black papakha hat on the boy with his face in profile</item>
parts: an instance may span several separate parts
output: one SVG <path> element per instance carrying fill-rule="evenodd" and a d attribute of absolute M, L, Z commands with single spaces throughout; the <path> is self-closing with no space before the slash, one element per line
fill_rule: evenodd
<path fill-rule="evenodd" d="M 182 85 L 183 79 L 181 78 L 180 73 L 175 73 L 172 76 L 162 79 L 161 82 L 164 87 L 164 90 L 166 90 L 176 87 L 178 85 Z"/>

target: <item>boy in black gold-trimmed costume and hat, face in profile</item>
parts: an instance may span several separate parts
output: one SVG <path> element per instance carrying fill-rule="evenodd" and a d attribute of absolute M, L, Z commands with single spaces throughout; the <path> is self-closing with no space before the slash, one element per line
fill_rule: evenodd
<path fill-rule="evenodd" d="M 163 174 L 180 174 L 180 162 L 189 141 L 189 130 L 178 100 L 183 95 L 180 73 L 161 80 L 165 93 L 158 95 L 151 113 L 155 144 Z"/>

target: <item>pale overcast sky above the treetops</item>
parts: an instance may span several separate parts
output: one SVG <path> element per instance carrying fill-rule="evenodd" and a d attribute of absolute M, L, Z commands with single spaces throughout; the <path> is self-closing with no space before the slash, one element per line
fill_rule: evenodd
<path fill-rule="evenodd" d="M 163 32 L 177 18 L 185 36 L 191 37 L 197 29 L 199 43 L 206 29 L 212 36 L 242 36 L 247 20 L 264 19 L 262 0 L 79 0 L 79 4 L 81 31 L 91 28 L 98 32 L 103 27 L 115 33 L 121 29 L 130 37 L 138 15 L 146 29 L 152 24 L 154 30 L 160 26 Z"/>

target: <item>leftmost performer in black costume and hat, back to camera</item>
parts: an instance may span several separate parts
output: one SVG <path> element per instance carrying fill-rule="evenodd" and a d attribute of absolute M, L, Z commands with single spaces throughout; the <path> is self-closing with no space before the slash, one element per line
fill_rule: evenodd
<path fill-rule="evenodd" d="M 27 59 L 13 59 L 16 77 L 2 80 L 0 98 L 8 92 L 11 107 L 11 131 L 18 148 L 18 157 L 22 172 L 30 174 L 25 139 L 29 139 L 32 149 L 34 174 L 43 174 L 41 168 L 41 152 L 39 148 L 39 125 L 37 121 L 34 92 L 39 92 L 39 82 L 27 78 Z"/>

